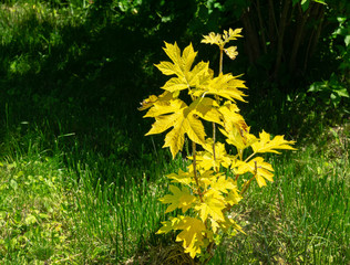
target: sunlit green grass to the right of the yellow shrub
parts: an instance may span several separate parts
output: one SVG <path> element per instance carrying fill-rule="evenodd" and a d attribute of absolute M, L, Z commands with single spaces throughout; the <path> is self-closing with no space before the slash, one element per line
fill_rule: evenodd
<path fill-rule="evenodd" d="M 253 189 L 237 213 L 247 235 L 227 241 L 213 264 L 349 263 L 349 124 L 343 130 L 342 144 L 329 132 L 323 146 L 271 158 L 275 182 Z"/>

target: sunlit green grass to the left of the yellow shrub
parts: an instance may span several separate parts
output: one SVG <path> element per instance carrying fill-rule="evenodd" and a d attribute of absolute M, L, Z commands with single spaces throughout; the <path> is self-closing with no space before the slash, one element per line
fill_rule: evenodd
<path fill-rule="evenodd" d="M 137 162 L 131 168 L 81 150 L 95 162 L 78 160 L 70 169 L 64 160 L 75 155 L 40 150 L 50 144 L 35 135 L 43 131 L 9 132 L 2 145 L 9 152 L 0 160 L 1 264 L 117 263 L 164 240 L 155 235 L 165 218 L 157 199 L 166 191 L 163 173 L 178 168 L 181 158 L 165 165 L 159 152 L 158 166 L 142 170 Z"/>

